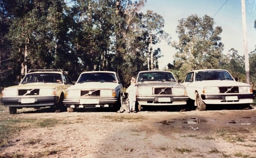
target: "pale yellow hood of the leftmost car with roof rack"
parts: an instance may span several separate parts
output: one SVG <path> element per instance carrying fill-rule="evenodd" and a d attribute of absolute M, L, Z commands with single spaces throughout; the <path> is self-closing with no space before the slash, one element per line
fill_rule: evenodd
<path fill-rule="evenodd" d="M 27 84 L 20 84 L 17 86 L 11 86 L 11 87 L 7 87 L 5 89 L 27 89 L 27 88 L 55 88 L 58 86 L 62 86 L 64 84 L 60 84 L 60 83 L 42 83 L 42 82 L 37 82 L 37 83 L 27 83 Z"/>

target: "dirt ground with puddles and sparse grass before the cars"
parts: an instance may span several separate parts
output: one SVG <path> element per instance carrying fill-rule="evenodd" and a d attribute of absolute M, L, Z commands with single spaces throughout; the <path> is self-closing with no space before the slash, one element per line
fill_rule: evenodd
<path fill-rule="evenodd" d="M 0 109 L 1 127 L 14 128 L 0 158 L 256 158 L 256 106 L 138 113 Z"/>

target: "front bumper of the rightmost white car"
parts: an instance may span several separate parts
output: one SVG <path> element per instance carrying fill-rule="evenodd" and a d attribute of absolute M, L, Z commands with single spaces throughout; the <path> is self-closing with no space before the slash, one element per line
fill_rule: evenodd
<path fill-rule="evenodd" d="M 226 97 L 237 97 L 238 99 L 227 100 Z M 205 104 L 248 104 L 253 102 L 255 96 L 254 94 L 201 94 L 201 98 Z"/>

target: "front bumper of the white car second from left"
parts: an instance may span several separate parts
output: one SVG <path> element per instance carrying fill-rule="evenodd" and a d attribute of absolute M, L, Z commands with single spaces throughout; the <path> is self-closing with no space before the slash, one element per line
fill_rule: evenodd
<path fill-rule="evenodd" d="M 95 98 L 66 98 L 63 100 L 66 107 L 113 107 L 118 104 L 116 97 L 95 97 Z"/>

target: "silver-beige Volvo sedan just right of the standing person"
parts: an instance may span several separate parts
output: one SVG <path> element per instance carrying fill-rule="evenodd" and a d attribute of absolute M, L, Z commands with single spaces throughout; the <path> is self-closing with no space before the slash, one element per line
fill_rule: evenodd
<path fill-rule="evenodd" d="M 140 71 L 136 80 L 138 111 L 148 105 L 186 105 L 189 98 L 186 88 L 170 71 Z"/>

